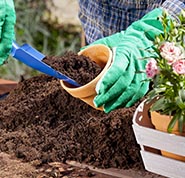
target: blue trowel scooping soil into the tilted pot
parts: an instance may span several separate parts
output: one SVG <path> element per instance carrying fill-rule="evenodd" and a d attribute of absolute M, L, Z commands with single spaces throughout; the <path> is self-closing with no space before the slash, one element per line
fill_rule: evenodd
<path fill-rule="evenodd" d="M 42 60 L 45 58 L 45 55 L 34 49 L 28 44 L 19 46 L 16 42 L 13 42 L 11 49 L 12 57 L 23 62 L 27 66 L 36 69 L 40 72 L 43 72 L 47 75 L 53 76 L 60 80 L 63 80 L 73 86 L 79 87 L 80 85 L 73 79 L 67 77 L 66 75 L 56 71 Z"/>

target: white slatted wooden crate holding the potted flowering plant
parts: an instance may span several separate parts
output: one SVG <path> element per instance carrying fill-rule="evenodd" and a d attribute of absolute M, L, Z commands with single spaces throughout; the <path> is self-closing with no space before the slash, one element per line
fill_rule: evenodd
<path fill-rule="evenodd" d="M 169 178 L 185 178 L 185 162 L 164 157 L 159 150 L 185 156 L 185 137 L 153 129 L 145 101 L 133 116 L 133 130 L 141 146 L 141 156 L 147 171 Z"/>

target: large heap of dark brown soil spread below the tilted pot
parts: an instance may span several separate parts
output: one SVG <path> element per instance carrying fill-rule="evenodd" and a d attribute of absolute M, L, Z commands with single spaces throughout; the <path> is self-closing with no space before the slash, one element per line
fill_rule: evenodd
<path fill-rule="evenodd" d="M 70 55 L 66 58 L 70 63 Z M 88 65 L 89 71 L 94 67 L 88 62 L 81 65 Z M 82 69 L 80 73 L 78 68 L 71 69 L 72 78 L 86 76 Z M 59 80 L 36 76 L 20 82 L 0 101 L 0 151 L 37 165 L 76 160 L 104 168 L 143 170 L 132 130 L 136 106 L 105 114 L 70 96 Z"/>

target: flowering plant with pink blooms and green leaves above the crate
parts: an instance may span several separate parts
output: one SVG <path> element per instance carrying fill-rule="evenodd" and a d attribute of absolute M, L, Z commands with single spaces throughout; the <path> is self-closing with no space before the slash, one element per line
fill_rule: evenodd
<path fill-rule="evenodd" d="M 149 102 L 156 99 L 150 111 L 168 116 L 167 131 L 171 133 L 178 125 L 176 129 L 182 134 L 185 124 L 185 12 L 179 15 L 179 23 L 168 19 L 166 12 L 159 18 L 164 33 L 155 38 L 154 54 L 146 65 L 147 77 L 153 83 L 147 97 Z M 152 112 L 152 116 L 157 116 L 156 112 Z"/>

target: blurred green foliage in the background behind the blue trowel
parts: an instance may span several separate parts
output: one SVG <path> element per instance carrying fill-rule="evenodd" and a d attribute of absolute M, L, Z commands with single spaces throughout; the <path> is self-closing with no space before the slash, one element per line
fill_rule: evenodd
<path fill-rule="evenodd" d="M 50 21 L 52 15 L 46 3 L 51 0 L 14 0 L 16 9 L 16 42 L 28 43 L 47 56 L 63 55 L 67 51 L 80 49 L 80 30 L 74 26 L 58 26 Z M 46 18 L 47 17 L 47 18 Z M 79 29 L 79 28 L 77 28 Z M 11 56 L 7 63 L 0 66 L 0 78 L 19 81 L 39 74 Z"/>

